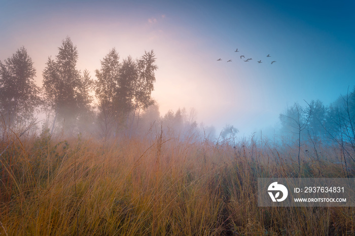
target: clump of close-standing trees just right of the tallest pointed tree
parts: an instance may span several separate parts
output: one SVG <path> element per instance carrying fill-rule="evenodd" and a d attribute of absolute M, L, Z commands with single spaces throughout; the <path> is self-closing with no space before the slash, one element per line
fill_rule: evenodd
<path fill-rule="evenodd" d="M 121 125 L 132 128 L 136 112 L 139 118 L 140 110 L 154 103 L 151 93 L 154 90 L 154 71 L 158 67 L 154 64 L 153 50 L 145 52 L 137 60 L 128 56 L 120 63 L 119 58 L 115 48 L 112 49 L 101 61 L 101 68 L 95 71 L 99 126 L 105 138 L 111 135 L 112 128 L 116 132 Z"/>

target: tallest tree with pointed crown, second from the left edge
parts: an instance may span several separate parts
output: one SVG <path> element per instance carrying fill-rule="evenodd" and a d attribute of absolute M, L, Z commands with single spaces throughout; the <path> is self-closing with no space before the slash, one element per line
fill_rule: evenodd
<path fill-rule="evenodd" d="M 88 71 L 81 75 L 77 70 L 78 51 L 69 37 L 58 50 L 56 60 L 49 57 L 43 71 L 44 94 L 55 112 L 53 127 L 59 119 L 63 121 L 63 128 L 73 132 L 80 114 L 91 108 L 89 91 L 93 82 Z"/>

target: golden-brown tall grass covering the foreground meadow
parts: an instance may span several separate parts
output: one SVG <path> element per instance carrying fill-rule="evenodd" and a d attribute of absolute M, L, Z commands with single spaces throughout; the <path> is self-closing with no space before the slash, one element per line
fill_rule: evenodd
<path fill-rule="evenodd" d="M 300 173 L 297 146 L 269 143 L 15 139 L 0 156 L 0 234 L 355 234 L 353 208 L 257 206 L 258 177 L 344 177 L 333 147 L 317 160 L 304 146 Z"/>

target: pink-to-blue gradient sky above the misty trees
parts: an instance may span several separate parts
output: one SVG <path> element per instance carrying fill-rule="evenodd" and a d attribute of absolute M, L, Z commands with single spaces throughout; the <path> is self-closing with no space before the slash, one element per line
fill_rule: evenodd
<path fill-rule="evenodd" d="M 24 46 L 38 85 L 66 36 L 77 46 L 77 68 L 94 79 L 112 48 L 121 60 L 154 50 L 152 96 L 161 115 L 194 109 L 198 123 L 217 131 L 228 124 L 243 136 L 272 133 L 295 102 L 329 105 L 355 86 L 355 1 L 0 0 L 0 6 L 0 60 Z"/>

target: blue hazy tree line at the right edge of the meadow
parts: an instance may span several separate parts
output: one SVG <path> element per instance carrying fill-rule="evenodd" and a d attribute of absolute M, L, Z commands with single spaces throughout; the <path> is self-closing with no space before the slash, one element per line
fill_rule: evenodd
<path fill-rule="evenodd" d="M 279 116 L 282 131 L 301 136 L 327 140 L 345 140 L 354 145 L 355 140 L 355 87 L 326 106 L 312 100 L 301 106 L 295 103 Z"/>

